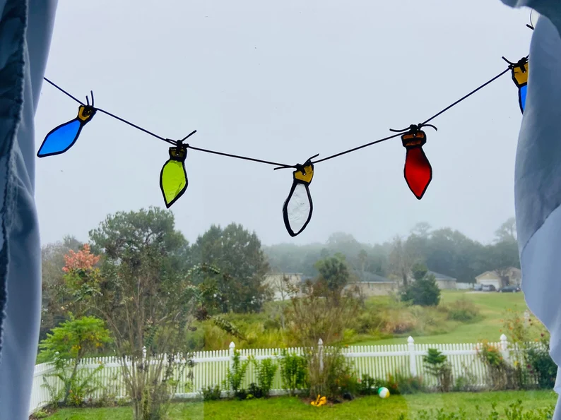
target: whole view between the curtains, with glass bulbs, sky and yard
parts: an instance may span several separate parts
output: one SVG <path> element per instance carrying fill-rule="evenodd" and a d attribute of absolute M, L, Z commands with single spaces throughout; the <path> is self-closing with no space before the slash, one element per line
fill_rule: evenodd
<path fill-rule="evenodd" d="M 553 418 L 529 10 L 371 3 L 59 3 L 30 419 Z"/>

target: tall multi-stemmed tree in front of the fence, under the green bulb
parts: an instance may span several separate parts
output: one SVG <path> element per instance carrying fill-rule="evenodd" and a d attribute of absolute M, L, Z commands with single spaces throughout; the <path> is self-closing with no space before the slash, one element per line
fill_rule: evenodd
<path fill-rule="evenodd" d="M 203 305 L 213 289 L 196 287 L 194 277 L 218 270 L 186 269 L 189 244 L 175 229 L 173 213 L 160 208 L 109 215 L 90 232 L 90 241 L 102 256 L 100 280 L 78 270 L 69 273 L 69 285 L 109 325 L 134 419 L 161 419 L 177 386 L 175 375 L 192 366 L 187 332 L 195 318 L 208 318 Z M 230 327 L 220 318 L 215 323 Z"/>

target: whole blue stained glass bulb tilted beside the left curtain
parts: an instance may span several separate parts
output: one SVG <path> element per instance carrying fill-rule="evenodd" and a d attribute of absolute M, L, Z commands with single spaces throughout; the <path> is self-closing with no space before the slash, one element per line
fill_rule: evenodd
<path fill-rule="evenodd" d="M 43 140 L 37 157 L 47 157 L 60 155 L 69 150 L 82 131 L 83 126 L 92 119 L 95 108 L 90 105 L 81 105 L 78 109 L 78 116 L 75 119 L 53 128 Z"/>

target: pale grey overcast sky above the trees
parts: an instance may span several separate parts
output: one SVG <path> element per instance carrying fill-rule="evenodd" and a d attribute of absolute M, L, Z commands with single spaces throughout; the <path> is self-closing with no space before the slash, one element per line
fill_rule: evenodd
<path fill-rule="evenodd" d="M 528 9 L 465 3 L 59 0 L 46 76 L 161 136 L 196 129 L 191 145 L 295 164 L 424 121 L 500 73 L 502 55 L 528 54 Z M 375 243 L 427 221 L 491 241 L 514 215 L 516 95 L 507 74 L 432 121 L 423 200 L 403 179 L 399 138 L 317 164 L 312 222 L 295 239 L 281 214 L 290 170 L 191 150 L 177 227 L 189 241 L 238 222 L 264 244 L 336 231 Z M 77 110 L 44 83 L 37 148 Z M 37 159 L 42 241 L 85 241 L 108 213 L 163 207 L 167 148 L 96 114 L 69 152 Z"/>

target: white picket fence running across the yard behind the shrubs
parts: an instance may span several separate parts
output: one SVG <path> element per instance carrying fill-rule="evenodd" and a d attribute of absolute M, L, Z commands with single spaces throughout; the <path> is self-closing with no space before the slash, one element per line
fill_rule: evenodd
<path fill-rule="evenodd" d="M 509 359 L 509 345 L 507 337 L 503 334 L 500 342 L 494 343 L 500 349 L 504 359 Z M 464 376 L 466 372 L 475 379 L 474 385 L 485 386 L 485 366 L 477 356 L 479 344 L 415 344 L 413 337 L 408 337 L 407 344 L 393 344 L 382 346 L 350 346 L 343 349 L 343 354 L 353 361 L 355 372 L 358 376 L 368 374 L 372 378 L 388 378 L 388 375 L 394 373 L 403 373 L 411 376 L 423 376 L 427 385 L 434 385 L 435 379 L 425 375 L 423 368 L 423 356 L 427 354 L 429 348 L 439 349 L 442 354 L 446 354 L 452 366 L 454 377 Z M 319 340 L 318 349 L 323 347 L 323 343 Z M 285 349 L 290 354 L 302 354 L 302 348 Z M 226 379 L 226 373 L 232 363 L 234 356 L 235 344 L 230 343 L 230 349 L 218 350 L 211 352 L 195 352 L 194 367 L 192 380 L 187 376 L 187 369 L 181 373 L 177 371 L 175 379 L 179 381 L 177 393 L 178 398 L 198 397 L 202 388 L 218 385 L 221 389 Z M 252 356 L 256 360 L 277 358 L 280 356 L 281 349 L 241 349 L 241 360 L 247 360 Z M 97 357 L 84 359 L 81 363 L 83 369 L 95 369 L 103 365 L 102 370 L 97 374 L 97 378 L 101 380 L 107 390 L 117 397 L 126 396 L 126 388 L 122 380 L 121 361 L 117 357 Z M 31 392 L 30 414 L 41 407 L 45 407 L 49 401 L 49 392 L 43 385 L 45 380 L 52 386 L 60 389 L 61 381 L 51 375 L 54 373 L 52 364 L 38 364 L 35 366 L 35 375 L 33 378 L 33 389 Z M 45 380 L 43 379 L 45 378 Z M 256 373 L 254 367 L 249 364 L 246 376 L 244 378 L 244 386 L 256 382 Z M 98 390 L 91 395 L 94 400 L 102 397 L 104 390 Z M 280 371 L 276 373 L 273 381 L 271 394 L 281 395 L 284 390 L 281 386 Z"/>

